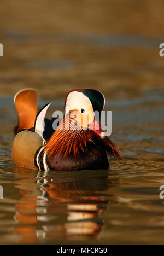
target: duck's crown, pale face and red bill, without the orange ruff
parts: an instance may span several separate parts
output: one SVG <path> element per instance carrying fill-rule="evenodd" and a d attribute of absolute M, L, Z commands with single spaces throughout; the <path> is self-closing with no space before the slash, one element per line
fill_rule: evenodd
<path fill-rule="evenodd" d="M 74 115 L 83 130 L 93 130 L 103 137 L 99 120 L 95 113 L 101 114 L 105 105 L 105 97 L 100 91 L 93 89 L 75 89 L 69 91 L 65 98 L 65 116 Z"/>

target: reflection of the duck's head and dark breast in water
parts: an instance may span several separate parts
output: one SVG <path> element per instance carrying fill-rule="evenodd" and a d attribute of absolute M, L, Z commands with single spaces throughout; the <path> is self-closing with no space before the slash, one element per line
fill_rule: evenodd
<path fill-rule="evenodd" d="M 76 238 L 97 237 L 101 232 L 103 219 L 101 213 L 103 205 L 108 201 L 96 193 L 107 188 L 107 176 L 99 179 L 77 179 L 73 177 L 63 179 L 56 177 L 45 187 L 50 199 L 57 199 L 59 203 L 66 203 L 67 219 L 59 230 L 65 230 L 66 236 Z M 56 204 L 56 201 L 53 201 Z M 53 203 L 52 202 L 52 203 Z"/>

